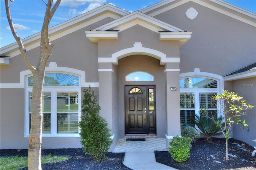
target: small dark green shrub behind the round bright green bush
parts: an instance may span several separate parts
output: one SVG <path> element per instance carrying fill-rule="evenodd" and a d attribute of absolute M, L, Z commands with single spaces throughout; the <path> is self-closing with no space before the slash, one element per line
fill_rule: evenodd
<path fill-rule="evenodd" d="M 192 142 L 196 142 L 196 138 L 200 137 L 200 133 L 196 131 L 194 127 L 187 125 L 186 123 L 181 124 L 181 136 L 192 139 Z"/>

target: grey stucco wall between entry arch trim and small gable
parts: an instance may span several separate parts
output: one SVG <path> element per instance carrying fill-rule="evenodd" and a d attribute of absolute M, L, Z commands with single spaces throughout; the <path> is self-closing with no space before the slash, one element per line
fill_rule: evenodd
<path fill-rule="evenodd" d="M 139 25 L 132 26 L 118 33 L 118 40 L 100 40 L 98 42 L 99 57 L 111 57 L 111 54 L 134 47 L 135 42 L 142 43 L 142 47 L 165 53 L 166 57 L 179 57 L 178 41 L 160 41 L 159 33 L 153 32 Z"/>

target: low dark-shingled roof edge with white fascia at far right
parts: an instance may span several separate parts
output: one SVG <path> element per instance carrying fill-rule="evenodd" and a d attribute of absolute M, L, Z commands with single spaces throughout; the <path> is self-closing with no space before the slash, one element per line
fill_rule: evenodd
<path fill-rule="evenodd" d="M 225 81 L 256 77 L 256 62 L 224 75 Z"/>

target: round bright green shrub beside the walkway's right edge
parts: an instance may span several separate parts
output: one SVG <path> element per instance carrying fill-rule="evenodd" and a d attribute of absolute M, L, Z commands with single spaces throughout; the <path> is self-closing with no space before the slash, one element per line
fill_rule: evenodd
<path fill-rule="evenodd" d="M 189 146 L 191 141 L 191 138 L 174 136 L 172 141 L 169 143 L 170 147 L 168 148 L 172 158 L 177 162 L 186 161 L 190 157 Z"/>

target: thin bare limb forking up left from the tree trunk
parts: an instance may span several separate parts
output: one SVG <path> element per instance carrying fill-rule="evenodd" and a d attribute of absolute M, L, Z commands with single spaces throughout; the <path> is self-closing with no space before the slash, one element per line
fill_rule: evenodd
<path fill-rule="evenodd" d="M 14 2 L 14 0 L 10 0 L 10 1 Z M 20 53 L 21 53 L 22 57 L 24 58 L 24 60 L 26 62 L 26 65 L 28 66 L 30 71 L 34 74 L 36 68 L 32 65 L 32 63 L 30 63 L 30 61 L 28 59 L 28 54 L 26 53 L 26 49 L 24 48 L 22 40 L 18 36 L 17 32 L 15 31 L 14 25 L 12 23 L 12 18 L 11 18 L 11 14 L 10 14 L 9 0 L 5 0 L 5 9 L 6 9 L 6 15 L 7 15 L 7 19 L 8 19 L 9 25 L 10 25 L 10 29 L 12 31 L 12 35 L 14 36 L 16 42 L 18 43 L 18 46 L 19 46 L 19 49 L 20 49 Z"/>

